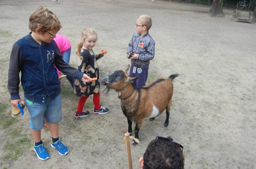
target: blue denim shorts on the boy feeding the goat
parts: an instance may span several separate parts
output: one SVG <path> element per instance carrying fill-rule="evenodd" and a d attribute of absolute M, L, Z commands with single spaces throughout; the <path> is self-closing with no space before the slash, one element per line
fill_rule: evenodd
<path fill-rule="evenodd" d="M 53 100 L 50 100 L 47 96 L 44 103 L 29 104 L 27 99 L 25 101 L 30 114 L 29 127 L 32 130 L 37 131 L 44 127 L 44 117 L 46 117 L 48 123 L 58 123 L 61 121 L 61 94 Z"/>

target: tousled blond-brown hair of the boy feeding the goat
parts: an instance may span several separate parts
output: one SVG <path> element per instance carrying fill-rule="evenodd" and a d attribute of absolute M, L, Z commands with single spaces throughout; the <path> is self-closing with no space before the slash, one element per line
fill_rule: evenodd
<path fill-rule="evenodd" d="M 36 31 L 38 28 L 41 30 L 42 35 L 44 35 L 46 31 L 59 31 L 61 27 L 57 16 L 50 10 L 43 9 L 42 6 L 38 6 L 36 11 L 29 17 L 29 29 Z"/>

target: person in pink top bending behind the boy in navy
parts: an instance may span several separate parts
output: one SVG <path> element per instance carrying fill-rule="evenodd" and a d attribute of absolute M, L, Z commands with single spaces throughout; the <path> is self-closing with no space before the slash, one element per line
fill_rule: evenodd
<path fill-rule="evenodd" d="M 54 38 L 53 40 L 56 42 L 57 46 L 59 47 L 60 53 L 62 53 L 62 59 L 64 60 L 64 62 L 69 64 L 70 54 L 71 54 L 70 42 L 69 42 L 68 38 L 66 38 L 63 35 L 56 34 L 55 36 L 56 36 L 56 38 Z M 57 73 L 60 76 L 60 71 L 58 69 L 57 69 Z M 66 77 L 69 80 L 71 86 L 73 87 L 74 78 L 70 77 L 70 76 L 66 76 Z"/>

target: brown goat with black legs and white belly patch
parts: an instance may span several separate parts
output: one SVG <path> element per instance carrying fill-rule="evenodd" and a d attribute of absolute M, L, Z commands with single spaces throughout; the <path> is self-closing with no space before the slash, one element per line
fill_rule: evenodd
<path fill-rule="evenodd" d="M 118 92 L 123 114 L 128 120 L 128 132 L 130 135 L 132 134 L 132 121 L 135 121 L 135 138 L 139 139 L 139 130 L 144 118 L 148 117 L 152 121 L 164 109 L 166 109 L 164 126 L 168 126 L 173 97 L 172 80 L 178 74 L 170 75 L 167 79 L 155 79 L 148 85 L 138 88 L 132 85 L 132 82 L 138 77 L 129 77 L 126 72 L 129 68 L 130 65 L 126 66 L 124 70 L 115 71 L 112 75 L 104 77 L 101 82 L 108 89 L 115 89 Z M 136 142 L 133 141 L 133 144 Z"/>

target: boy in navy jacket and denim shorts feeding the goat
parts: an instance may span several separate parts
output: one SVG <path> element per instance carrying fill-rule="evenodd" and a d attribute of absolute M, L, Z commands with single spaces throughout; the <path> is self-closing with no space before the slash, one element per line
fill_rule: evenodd
<path fill-rule="evenodd" d="M 8 90 L 11 104 L 22 106 L 19 97 L 19 72 L 25 95 L 25 102 L 30 114 L 30 131 L 35 140 L 34 151 L 40 160 L 50 158 L 41 140 L 44 117 L 52 135 L 51 147 L 60 155 L 69 150 L 59 140 L 58 122 L 61 121 L 60 82 L 54 65 L 63 72 L 80 81 L 90 82 L 91 78 L 69 66 L 53 40 L 61 28 L 55 14 L 41 6 L 29 18 L 32 32 L 19 39 L 12 47 L 8 74 Z"/>

